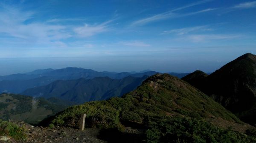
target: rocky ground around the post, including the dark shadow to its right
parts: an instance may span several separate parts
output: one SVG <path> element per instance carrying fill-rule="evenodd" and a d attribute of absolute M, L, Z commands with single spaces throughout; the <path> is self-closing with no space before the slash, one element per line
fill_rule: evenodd
<path fill-rule="evenodd" d="M 15 141 L 10 137 L 0 136 L 0 143 L 140 143 L 140 131 L 125 127 L 124 132 L 116 130 L 85 128 L 84 131 L 70 127 L 44 128 L 27 123 L 15 122 L 26 129 L 27 140 Z"/>

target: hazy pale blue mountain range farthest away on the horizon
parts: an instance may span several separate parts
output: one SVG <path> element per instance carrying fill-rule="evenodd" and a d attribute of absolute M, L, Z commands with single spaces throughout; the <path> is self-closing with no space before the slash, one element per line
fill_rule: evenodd
<path fill-rule="evenodd" d="M 109 77 L 111 79 L 123 79 L 127 76 L 141 78 L 143 76 L 152 76 L 158 72 L 144 70 L 142 72 L 97 72 L 91 69 L 67 67 L 64 69 L 44 69 L 35 70 L 29 73 L 12 74 L 8 76 L 0 76 L 0 93 L 22 93 L 26 89 L 40 87 L 52 83 L 57 80 L 73 80 L 73 79 L 93 79 L 96 77 Z M 186 74 L 170 73 L 179 78 Z"/>

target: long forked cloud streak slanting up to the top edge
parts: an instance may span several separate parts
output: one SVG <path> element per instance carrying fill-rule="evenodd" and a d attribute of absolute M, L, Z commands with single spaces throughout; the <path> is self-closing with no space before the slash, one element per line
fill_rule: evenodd
<path fill-rule="evenodd" d="M 202 11 L 196 11 L 196 12 L 191 12 L 191 13 L 186 13 L 186 14 L 177 14 L 177 13 L 175 13 L 175 11 L 179 11 L 179 10 L 182 10 L 182 9 L 185 9 L 185 8 L 189 8 L 189 7 L 192 7 L 192 6 L 207 3 L 209 1 L 211 1 L 211 0 L 203 0 L 203 1 L 196 2 L 196 3 L 191 3 L 191 4 L 186 5 L 186 6 L 175 8 L 171 11 L 167 11 L 167 12 L 157 14 L 157 15 L 154 15 L 154 16 L 151 16 L 151 17 L 143 18 L 141 20 L 136 20 L 136 21 L 132 22 L 131 25 L 132 26 L 145 25 L 149 22 L 155 22 L 155 21 L 159 21 L 159 20 L 166 20 L 166 19 L 175 18 L 175 17 L 184 17 L 184 16 L 188 16 L 188 15 L 199 14 L 199 13 L 202 13 L 202 12 L 207 12 L 207 11 L 214 10 L 213 8 L 207 8 L 207 9 L 202 10 Z"/>

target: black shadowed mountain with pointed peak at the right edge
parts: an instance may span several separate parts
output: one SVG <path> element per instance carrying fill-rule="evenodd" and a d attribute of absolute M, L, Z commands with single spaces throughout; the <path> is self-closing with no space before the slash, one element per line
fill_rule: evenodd
<path fill-rule="evenodd" d="M 256 55 L 244 54 L 210 75 L 195 71 L 182 79 L 256 126 Z"/>

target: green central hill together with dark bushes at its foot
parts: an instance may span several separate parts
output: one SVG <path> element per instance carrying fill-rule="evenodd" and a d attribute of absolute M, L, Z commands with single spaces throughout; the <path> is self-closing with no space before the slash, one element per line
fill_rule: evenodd
<path fill-rule="evenodd" d="M 195 87 L 169 74 L 149 77 L 122 98 L 69 107 L 55 115 L 50 123 L 78 127 L 80 115 L 84 113 L 86 126 L 106 129 L 100 137 L 113 143 L 256 141 L 222 129 L 233 126 L 236 131 L 245 132 L 250 126 Z"/>

